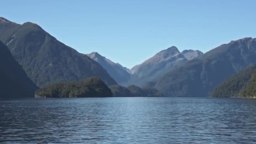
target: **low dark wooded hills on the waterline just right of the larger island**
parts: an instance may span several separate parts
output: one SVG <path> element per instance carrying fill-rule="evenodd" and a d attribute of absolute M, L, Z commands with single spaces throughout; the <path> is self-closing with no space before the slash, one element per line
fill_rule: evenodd
<path fill-rule="evenodd" d="M 113 96 L 142 96 L 142 97 L 155 97 L 163 96 L 155 88 L 140 88 L 136 85 L 130 85 L 127 88 L 121 85 L 112 85 L 109 87 Z"/>

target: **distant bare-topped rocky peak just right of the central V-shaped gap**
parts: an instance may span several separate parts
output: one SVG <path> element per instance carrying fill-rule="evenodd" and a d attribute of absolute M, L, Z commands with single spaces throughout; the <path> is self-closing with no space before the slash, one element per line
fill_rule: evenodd
<path fill-rule="evenodd" d="M 187 58 L 179 52 L 178 48 L 172 46 L 133 67 L 131 80 L 127 84 L 144 85 L 147 81 L 154 81 L 160 75 L 180 67 L 187 61 Z"/>

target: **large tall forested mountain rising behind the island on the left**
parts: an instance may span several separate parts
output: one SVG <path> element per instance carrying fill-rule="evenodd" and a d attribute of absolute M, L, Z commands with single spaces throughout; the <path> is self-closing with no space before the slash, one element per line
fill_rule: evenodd
<path fill-rule="evenodd" d="M 0 40 L 40 87 L 87 77 L 100 77 L 108 85 L 117 84 L 100 64 L 61 43 L 37 24 L 16 24 L 1 17 Z"/>

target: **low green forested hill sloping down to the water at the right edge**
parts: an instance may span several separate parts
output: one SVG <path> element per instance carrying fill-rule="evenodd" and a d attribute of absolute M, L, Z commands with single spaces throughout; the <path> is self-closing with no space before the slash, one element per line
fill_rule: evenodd
<path fill-rule="evenodd" d="M 211 97 L 243 97 L 244 96 L 250 96 L 249 92 L 251 92 L 252 89 L 250 89 L 250 86 L 248 86 L 250 83 L 253 84 L 253 78 L 255 79 L 256 74 L 256 66 L 249 67 L 247 69 L 244 69 L 240 72 L 238 72 L 235 75 L 232 75 L 227 80 L 225 80 L 223 83 L 218 85 L 213 92 L 211 93 Z M 248 90 L 245 90 L 248 89 Z M 253 89 L 256 90 L 255 85 L 253 86 Z M 247 94 L 248 93 L 248 94 Z"/>

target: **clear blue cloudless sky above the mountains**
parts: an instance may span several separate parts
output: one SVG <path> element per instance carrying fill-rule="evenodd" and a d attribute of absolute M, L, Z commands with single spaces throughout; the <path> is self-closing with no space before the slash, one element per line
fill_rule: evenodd
<path fill-rule="evenodd" d="M 172 45 L 206 52 L 256 37 L 256 0 L 3 0 L 0 16 L 39 24 L 81 53 L 133 67 Z"/>

